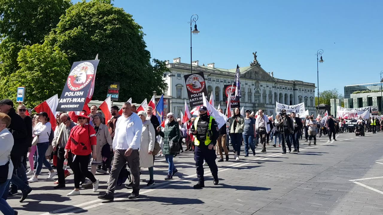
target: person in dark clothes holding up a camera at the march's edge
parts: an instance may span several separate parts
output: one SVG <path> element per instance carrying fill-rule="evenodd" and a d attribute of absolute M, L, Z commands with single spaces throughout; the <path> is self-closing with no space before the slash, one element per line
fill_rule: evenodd
<path fill-rule="evenodd" d="M 288 152 L 291 152 L 291 142 L 290 135 L 294 133 L 294 124 L 289 116 L 286 114 L 286 110 L 282 110 L 280 113 L 280 118 L 278 120 L 278 126 L 280 127 L 279 132 L 282 139 L 282 154 L 286 154 L 286 145 L 287 142 Z"/>

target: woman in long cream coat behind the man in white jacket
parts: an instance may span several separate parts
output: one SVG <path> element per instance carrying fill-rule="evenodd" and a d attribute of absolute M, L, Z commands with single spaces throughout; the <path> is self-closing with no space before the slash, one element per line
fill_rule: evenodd
<path fill-rule="evenodd" d="M 140 168 L 148 168 L 150 180 L 147 186 L 154 185 L 152 152 L 154 150 L 155 131 L 150 120 L 146 120 L 146 112 L 139 111 L 138 116 L 142 120 L 141 146 L 140 146 Z"/>

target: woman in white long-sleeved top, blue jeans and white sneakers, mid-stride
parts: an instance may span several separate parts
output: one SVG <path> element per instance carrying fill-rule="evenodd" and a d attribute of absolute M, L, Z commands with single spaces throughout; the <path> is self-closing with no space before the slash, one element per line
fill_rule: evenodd
<path fill-rule="evenodd" d="M 36 172 L 28 181 L 30 183 L 37 182 L 38 176 L 41 173 L 43 164 L 46 168 L 49 169 L 49 176 L 47 179 L 51 179 L 56 176 L 56 172 L 52 169 L 51 164 L 45 159 L 45 153 L 50 145 L 49 135 L 51 134 L 52 125 L 49 122 L 49 117 L 46 112 L 41 112 L 36 114 L 39 117 L 40 122 L 34 126 L 33 134 L 39 137 L 39 140 L 36 144 L 37 146 L 37 167 Z"/>

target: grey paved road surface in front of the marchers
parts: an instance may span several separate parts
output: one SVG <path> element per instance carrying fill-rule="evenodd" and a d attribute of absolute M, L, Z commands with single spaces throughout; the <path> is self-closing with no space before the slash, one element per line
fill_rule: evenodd
<path fill-rule="evenodd" d="M 18 201 L 20 195 L 9 197 L 8 202 L 19 214 L 28 215 L 381 215 L 382 137 L 344 133 L 337 136 L 338 141 L 321 137 L 316 146 L 301 141 L 299 154 L 283 155 L 282 148 L 270 145 L 267 153 L 257 150 L 256 156 L 241 156 L 240 161 L 233 160 L 231 153 L 231 160 L 217 163 L 219 185 L 213 185 L 206 167 L 206 187 L 201 190 L 192 187 L 196 183 L 192 152 L 174 159 L 178 173 L 171 181 L 164 180 L 167 164 L 158 157 L 156 184 L 146 186 L 148 171 L 142 169 L 140 197 L 127 199 L 131 190 L 121 186 L 114 202 L 97 199 L 107 187 L 107 175 L 96 174 L 100 179 L 97 192 L 81 189 L 81 195 L 67 197 L 73 189 L 73 175 L 67 178 L 65 189 L 54 190 L 54 180 L 44 179 L 47 170 L 43 169 L 25 202 Z"/>

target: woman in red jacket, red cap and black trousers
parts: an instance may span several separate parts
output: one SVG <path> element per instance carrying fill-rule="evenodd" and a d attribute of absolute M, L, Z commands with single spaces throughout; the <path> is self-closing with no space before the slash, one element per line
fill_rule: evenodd
<path fill-rule="evenodd" d="M 85 176 L 93 183 L 93 192 L 98 189 L 98 179 L 88 170 L 89 155 L 92 153 L 93 159 L 96 159 L 96 131 L 88 124 L 89 117 L 85 112 L 80 112 L 77 116 L 78 125 L 70 131 L 67 145 L 65 146 L 64 157 L 68 158 L 70 151 L 73 156 L 72 170 L 74 173 L 74 190 L 68 196 L 80 195 L 81 176 Z M 92 148 L 91 148 L 92 147 Z"/>

